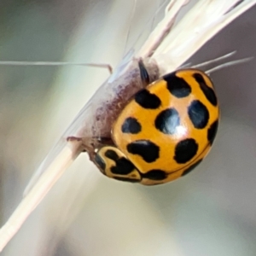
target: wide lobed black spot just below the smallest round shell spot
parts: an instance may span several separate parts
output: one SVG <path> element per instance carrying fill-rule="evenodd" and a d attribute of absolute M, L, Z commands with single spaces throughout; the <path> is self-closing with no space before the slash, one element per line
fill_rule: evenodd
<path fill-rule="evenodd" d="M 159 158 L 160 148 L 148 140 L 139 140 L 127 145 L 131 154 L 140 155 L 147 163 L 152 163 Z"/>

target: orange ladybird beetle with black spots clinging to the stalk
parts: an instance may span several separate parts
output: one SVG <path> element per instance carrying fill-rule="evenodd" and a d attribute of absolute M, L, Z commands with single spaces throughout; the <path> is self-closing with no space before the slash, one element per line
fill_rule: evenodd
<path fill-rule="evenodd" d="M 139 62 L 143 83 L 148 73 Z M 201 70 L 169 73 L 131 98 L 112 127 L 114 145 L 96 152 L 108 177 L 131 183 L 167 183 L 191 172 L 207 155 L 218 130 L 212 81 Z"/>

